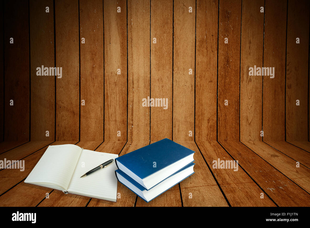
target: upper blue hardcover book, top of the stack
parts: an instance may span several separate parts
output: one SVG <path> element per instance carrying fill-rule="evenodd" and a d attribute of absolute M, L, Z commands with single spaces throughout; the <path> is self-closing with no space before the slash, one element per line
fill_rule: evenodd
<path fill-rule="evenodd" d="M 195 151 L 163 139 L 115 159 L 117 168 L 146 190 L 194 161 Z"/>

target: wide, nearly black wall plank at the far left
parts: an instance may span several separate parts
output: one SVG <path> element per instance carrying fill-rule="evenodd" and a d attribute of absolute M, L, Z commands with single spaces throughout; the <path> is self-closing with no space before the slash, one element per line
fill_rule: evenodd
<path fill-rule="evenodd" d="M 5 2 L 4 9 L 4 141 L 29 141 L 28 2 Z"/>

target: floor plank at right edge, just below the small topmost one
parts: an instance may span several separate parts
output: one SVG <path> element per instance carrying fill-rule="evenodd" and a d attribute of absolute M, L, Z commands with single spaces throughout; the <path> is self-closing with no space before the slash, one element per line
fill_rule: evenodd
<path fill-rule="evenodd" d="M 284 141 L 264 141 L 274 149 L 310 168 L 310 153 Z"/>

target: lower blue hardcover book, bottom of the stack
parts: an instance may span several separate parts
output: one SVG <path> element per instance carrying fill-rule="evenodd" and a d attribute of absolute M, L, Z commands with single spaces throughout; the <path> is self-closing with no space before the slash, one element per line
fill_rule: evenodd
<path fill-rule="evenodd" d="M 143 186 L 141 186 L 138 182 L 129 177 L 126 173 L 122 172 L 120 169 L 115 170 L 115 174 L 119 182 L 121 182 L 129 190 L 137 194 L 141 199 L 148 203 L 149 201 L 169 190 L 179 182 L 191 176 L 194 173 L 194 164 L 195 163 L 188 164 L 187 166 L 183 167 L 178 172 L 149 190 L 145 189 Z"/>

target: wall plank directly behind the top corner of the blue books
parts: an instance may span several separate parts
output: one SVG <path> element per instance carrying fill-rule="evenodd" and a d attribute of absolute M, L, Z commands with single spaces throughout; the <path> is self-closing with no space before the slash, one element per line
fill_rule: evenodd
<path fill-rule="evenodd" d="M 151 98 L 167 99 L 167 108 L 151 107 L 151 141 L 172 139 L 173 1 L 151 2 Z M 156 38 L 156 43 L 153 43 Z"/>

